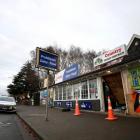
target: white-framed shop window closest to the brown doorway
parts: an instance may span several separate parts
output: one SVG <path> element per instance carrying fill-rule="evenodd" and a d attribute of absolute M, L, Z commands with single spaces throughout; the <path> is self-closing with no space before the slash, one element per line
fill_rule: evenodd
<path fill-rule="evenodd" d="M 89 95 L 90 99 L 97 99 L 98 98 L 98 91 L 97 91 L 97 80 L 89 80 Z"/>

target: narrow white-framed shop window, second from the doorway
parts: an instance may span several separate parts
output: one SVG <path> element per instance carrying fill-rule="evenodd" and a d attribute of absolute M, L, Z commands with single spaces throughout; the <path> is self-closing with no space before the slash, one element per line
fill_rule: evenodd
<path fill-rule="evenodd" d="M 82 99 L 88 99 L 87 81 L 81 83 L 81 98 Z"/>

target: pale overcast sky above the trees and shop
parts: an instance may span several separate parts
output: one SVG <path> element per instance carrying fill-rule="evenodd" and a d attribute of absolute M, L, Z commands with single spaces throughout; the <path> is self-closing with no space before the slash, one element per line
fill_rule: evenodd
<path fill-rule="evenodd" d="M 139 0 L 0 0 L 0 93 L 37 46 L 113 49 L 140 34 Z"/>

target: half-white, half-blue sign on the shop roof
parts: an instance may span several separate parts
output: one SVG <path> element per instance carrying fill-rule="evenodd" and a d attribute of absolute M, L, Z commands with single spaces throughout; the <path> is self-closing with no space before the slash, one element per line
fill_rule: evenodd
<path fill-rule="evenodd" d="M 79 75 L 78 64 L 73 64 L 69 68 L 55 74 L 55 84 L 76 78 Z"/>

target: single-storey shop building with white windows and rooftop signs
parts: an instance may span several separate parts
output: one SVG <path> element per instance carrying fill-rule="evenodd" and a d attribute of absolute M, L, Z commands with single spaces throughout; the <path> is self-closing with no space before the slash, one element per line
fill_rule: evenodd
<path fill-rule="evenodd" d="M 71 78 L 63 76 L 50 87 L 53 103 L 59 108 L 75 108 L 78 97 L 80 109 L 105 112 L 110 96 L 114 111 L 139 114 L 140 107 L 140 36 L 133 35 L 128 45 L 107 51 L 94 60 L 95 69 L 77 75 L 75 64 L 66 69 Z M 66 71 L 56 74 L 62 78 Z"/>

